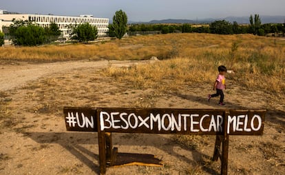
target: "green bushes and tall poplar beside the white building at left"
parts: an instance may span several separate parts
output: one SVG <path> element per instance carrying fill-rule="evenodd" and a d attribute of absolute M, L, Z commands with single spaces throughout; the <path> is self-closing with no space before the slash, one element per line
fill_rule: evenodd
<path fill-rule="evenodd" d="M 61 36 L 61 30 L 56 23 L 50 23 L 49 28 L 43 28 L 32 21 L 13 20 L 13 23 L 6 28 L 6 34 L 14 45 L 43 45 L 52 43 Z M 89 23 L 70 25 L 70 38 L 74 41 L 85 42 L 94 41 L 98 37 L 98 29 Z M 121 39 L 127 32 L 127 14 L 119 10 L 113 17 L 112 34 Z M 0 45 L 4 44 L 4 34 L 0 32 Z"/>

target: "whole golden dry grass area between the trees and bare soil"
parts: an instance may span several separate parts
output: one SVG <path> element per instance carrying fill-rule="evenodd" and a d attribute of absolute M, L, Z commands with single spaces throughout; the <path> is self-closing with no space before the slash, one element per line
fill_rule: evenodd
<path fill-rule="evenodd" d="M 112 68 L 105 74 L 131 81 L 136 88 L 176 90 L 181 84 L 209 83 L 226 65 L 233 79 L 247 88 L 285 93 L 285 40 L 251 34 L 161 34 L 129 37 L 94 44 L 1 48 L 5 61 L 142 60 L 157 56 L 153 65 Z"/>

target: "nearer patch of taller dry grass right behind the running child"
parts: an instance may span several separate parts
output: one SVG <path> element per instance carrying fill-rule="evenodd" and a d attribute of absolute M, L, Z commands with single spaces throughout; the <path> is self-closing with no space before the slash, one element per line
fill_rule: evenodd
<path fill-rule="evenodd" d="M 194 86 L 199 86 L 200 83 L 212 83 L 218 74 L 218 65 L 227 65 L 227 61 L 226 59 L 211 59 L 211 56 L 215 55 L 169 59 L 131 68 L 109 67 L 104 73 L 122 82 L 130 82 L 134 88 L 154 88 L 165 92 L 175 92 L 182 85 L 195 88 Z M 277 61 L 267 60 L 253 63 L 237 61 L 235 63 L 236 73 L 228 74 L 227 78 L 246 86 L 249 90 L 261 89 L 281 96 L 285 93 L 284 70 L 284 63 Z"/>

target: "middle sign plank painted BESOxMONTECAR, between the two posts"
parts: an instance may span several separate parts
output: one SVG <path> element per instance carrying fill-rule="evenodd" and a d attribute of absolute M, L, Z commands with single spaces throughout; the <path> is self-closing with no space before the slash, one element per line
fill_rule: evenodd
<path fill-rule="evenodd" d="M 223 110 L 159 108 L 102 108 L 101 110 L 101 130 L 104 128 L 106 132 L 149 134 L 216 134 L 216 132 L 221 132 L 222 134 Z M 210 125 L 211 120 L 212 125 Z"/>

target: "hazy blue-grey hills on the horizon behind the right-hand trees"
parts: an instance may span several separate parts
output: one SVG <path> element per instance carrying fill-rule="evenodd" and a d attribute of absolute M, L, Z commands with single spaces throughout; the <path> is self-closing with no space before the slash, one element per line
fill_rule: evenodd
<path fill-rule="evenodd" d="M 226 17 L 223 18 L 226 21 L 237 21 L 237 23 L 249 23 L 249 17 Z M 162 20 L 152 20 L 146 23 L 211 23 L 217 20 L 223 19 L 162 19 Z M 285 23 L 285 16 L 260 16 L 262 23 Z M 131 23 L 136 23 L 132 21 Z M 140 22 L 142 23 L 142 22 Z"/>

